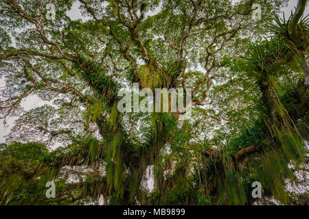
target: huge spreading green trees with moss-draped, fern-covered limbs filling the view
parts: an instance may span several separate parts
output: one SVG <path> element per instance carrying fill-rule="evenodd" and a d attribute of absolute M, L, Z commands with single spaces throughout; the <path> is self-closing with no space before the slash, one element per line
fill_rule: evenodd
<path fill-rule="evenodd" d="M 0 114 L 17 119 L 1 144 L 0 203 L 250 205 L 260 181 L 264 198 L 300 204 L 308 191 L 286 184 L 307 171 L 309 17 L 299 0 L 280 18 L 286 2 L 1 0 Z M 67 15 L 76 3 L 86 21 Z M 192 89 L 191 118 L 119 112 L 133 83 Z M 50 104 L 25 111 L 31 95 Z"/>

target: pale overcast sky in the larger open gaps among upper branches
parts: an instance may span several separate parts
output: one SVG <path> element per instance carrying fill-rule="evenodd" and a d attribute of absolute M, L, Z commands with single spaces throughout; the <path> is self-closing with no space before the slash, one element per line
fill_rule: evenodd
<path fill-rule="evenodd" d="M 239 0 L 231 0 L 233 3 L 236 3 Z M 74 3 L 73 7 L 71 8 L 71 10 L 69 12 L 67 12 L 67 15 L 72 19 L 72 20 L 76 20 L 76 19 L 82 19 L 82 21 L 87 21 L 87 19 L 89 19 L 89 17 L 85 17 L 82 16 L 82 14 L 80 13 L 79 8 L 79 3 Z M 283 8 L 282 12 L 284 12 L 286 14 L 286 17 L 290 16 L 290 12 L 291 10 L 293 10 L 297 5 L 297 0 L 290 0 L 288 2 L 288 7 Z M 155 12 L 151 12 L 148 13 L 149 15 L 152 14 L 156 14 L 159 11 L 156 10 Z M 309 14 L 309 7 L 307 5 L 306 7 L 306 11 L 305 11 L 305 16 L 307 14 Z M 0 88 L 2 88 L 3 86 L 5 86 L 5 83 L 3 82 L 3 79 L 0 79 Z M 22 102 L 22 106 L 24 107 L 25 110 L 31 110 L 35 107 L 40 107 L 42 105 L 44 105 L 45 103 L 49 103 L 47 101 L 42 101 L 41 99 L 39 99 L 37 96 L 29 96 L 27 97 L 27 99 L 25 99 Z M 8 119 L 7 123 L 8 123 L 8 127 L 4 127 L 3 125 L 3 120 L 0 120 L 0 143 L 5 142 L 5 138 L 4 136 L 8 135 L 8 133 L 10 132 L 10 129 L 12 128 L 12 126 L 14 125 L 14 119 L 15 118 L 10 118 Z"/>

